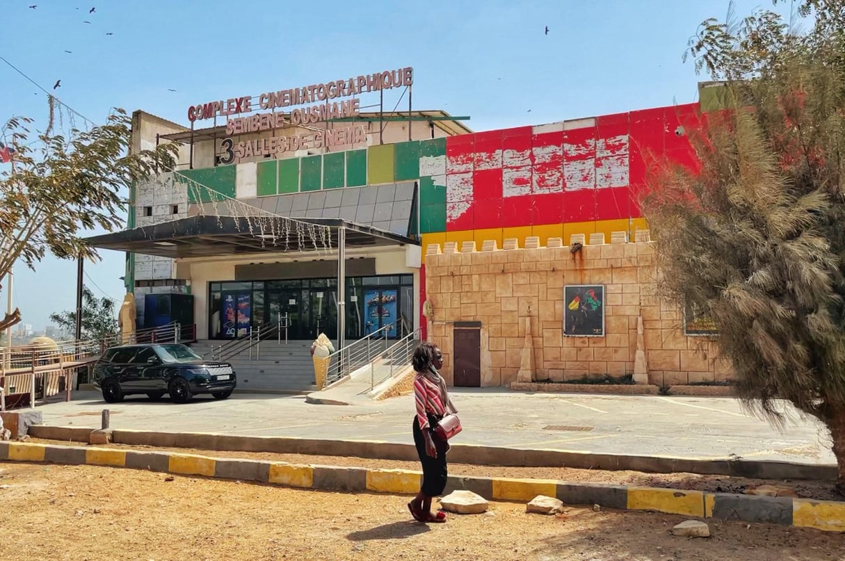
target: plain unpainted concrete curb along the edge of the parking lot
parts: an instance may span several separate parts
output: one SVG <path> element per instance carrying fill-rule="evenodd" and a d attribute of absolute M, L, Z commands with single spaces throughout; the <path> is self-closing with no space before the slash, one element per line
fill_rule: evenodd
<path fill-rule="evenodd" d="M 30 427 L 30 436 L 47 440 L 90 443 L 92 428 Z M 322 438 L 231 436 L 215 433 L 164 433 L 138 430 L 112 430 L 112 443 L 164 448 L 215 449 L 232 452 L 270 452 L 329 456 L 357 456 L 377 460 L 417 461 L 413 444 L 375 440 L 329 440 Z M 584 470 L 645 471 L 648 473 L 697 473 L 756 479 L 837 478 L 837 466 L 782 461 L 711 460 L 672 456 L 594 454 L 591 452 L 516 449 L 476 444 L 453 444 L 450 461 L 475 466 L 564 466 Z"/>

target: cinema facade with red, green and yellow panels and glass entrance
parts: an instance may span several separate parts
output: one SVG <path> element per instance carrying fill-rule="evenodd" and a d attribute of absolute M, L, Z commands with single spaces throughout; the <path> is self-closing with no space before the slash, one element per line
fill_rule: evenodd
<path fill-rule="evenodd" d="M 226 215 L 227 205 L 237 205 L 239 213 L 256 209 L 389 232 L 397 237 L 392 245 L 363 244 L 346 254 L 346 340 L 399 320 L 403 327 L 392 336 L 420 329 L 425 338 L 422 248 L 447 242 L 480 248 L 490 241 L 501 248 L 509 238 L 523 248 L 532 237 L 540 246 L 557 238 L 568 246 L 573 235 L 610 240 L 613 232 L 633 241 L 635 231 L 647 229 L 638 201 L 651 162 L 695 166 L 685 126 L 700 110 L 695 103 L 484 132 L 472 132 L 461 117 L 444 112 L 362 114 L 354 125 L 360 131 L 331 146 L 294 146 L 292 138 L 313 134 L 313 127 L 232 133 L 231 126 L 188 128 L 135 112 L 134 150 L 183 145 L 175 172 L 134 189 L 128 228 Z M 324 125 L 321 134 L 330 127 L 335 124 Z M 286 150 L 268 152 L 285 135 L 291 139 L 284 141 Z M 226 163 L 232 140 L 241 151 Z M 292 339 L 311 340 L 320 332 L 335 338 L 335 253 L 262 248 L 177 259 L 150 253 L 159 254 L 127 257 L 126 284 L 136 296 L 139 327 L 150 317 L 145 295 L 177 293 L 193 296 L 199 339 L 243 335 L 281 315 L 289 319 Z M 234 325 L 227 322 L 232 302 L 239 312 Z M 492 368 L 515 368 L 508 364 Z M 547 369 L 557 375 L 564 368 Z M 501 372 L 494 378 L 504 384 L 508 377 Z"/>

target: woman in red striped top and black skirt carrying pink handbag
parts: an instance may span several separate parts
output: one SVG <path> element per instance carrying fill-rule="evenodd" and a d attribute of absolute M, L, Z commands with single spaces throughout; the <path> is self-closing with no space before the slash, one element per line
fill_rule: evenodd
<path fill-rule="evenodd" d="M 457 413 L 446 390 L 446 382 L 438 373 L 443 368 L 443 353 L 437 346 L 423 342 L 412 359 L 414 368 L 414 398 L 417 414 L 414 416 L 413 433 L 417 455 L 423 464 L 423 485 L 417 496 L 408 503 L 408 509 L 420 522 L 445 522 L 446 513 L 431 511 L 432 498 L 443 493 L 448 471 L 446 452 L 449 442 L 434 431 L 437 423 L 450 413 Z"/>

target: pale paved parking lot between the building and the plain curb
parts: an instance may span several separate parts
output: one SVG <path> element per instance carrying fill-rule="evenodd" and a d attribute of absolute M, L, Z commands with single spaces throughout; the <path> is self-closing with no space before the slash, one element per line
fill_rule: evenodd
<path fill-rule="evenodd" d="M 455 389 L 464 432 L 456 443 L 685 458 L 782 460 L 832 464 L 826 431 L 792 415 L 780 433 L 729 398 L 657 395 L 523 394 L 506 389 Z M 41 406 L 52 426 L 296 436 L 411 443 L 412 396 L 356 406 L 305 403 L 303 396 L 235 394 L 196 397 L 177 405 L 130 397 L 106 404 L 95 392 Z"/>

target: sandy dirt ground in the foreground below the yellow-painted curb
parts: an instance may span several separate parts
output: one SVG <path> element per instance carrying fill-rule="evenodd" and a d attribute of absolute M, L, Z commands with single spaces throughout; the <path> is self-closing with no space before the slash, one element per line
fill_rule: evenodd
<path fill-rule="evenodd" d="M 491 503 L 445 524 L 411 520 L 406 497 L 327 493 L 152 471 L 0 462 L 3 559 L 841 559 L 845 535 L 679 516 Z"/>

